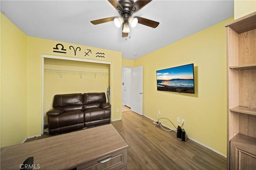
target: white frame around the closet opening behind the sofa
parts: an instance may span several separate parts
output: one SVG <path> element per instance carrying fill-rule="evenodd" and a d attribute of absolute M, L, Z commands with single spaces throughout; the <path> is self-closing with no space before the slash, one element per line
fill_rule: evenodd
<path fill-rule="evenodd" d="M 83 59 L 83 58 L 75 58 L 75 57 L 64 57 L 59 55 L 47 55 L 42 54 L 42 134 L 44 134 L 44 58 L 52 58 L 52 59 L 65 59 L 65 60 L 72 60 L 72 61 L 84 61 L 90 63 L 102 63 L 102 64 L 109 64 L 110 65 L 110 101 L 112 101 L 112 90 L 111 90 L 111 69 L 112 65 L 110 61 L 101 61 L 101 60 L 94 60 L 94 59 Z M 110 118 L 112 119 L 112 117 Z M 111 121 L 111 120 L 110 120 Z"/>

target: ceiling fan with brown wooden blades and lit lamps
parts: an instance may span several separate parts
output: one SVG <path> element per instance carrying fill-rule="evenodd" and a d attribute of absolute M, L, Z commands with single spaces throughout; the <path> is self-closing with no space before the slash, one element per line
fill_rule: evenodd
<path fill-rule="evenodd" d="M 152 0 L 108 0 L 114 8 L 119 12 L 120 17 L 112 16 L 108 18 L 102 18 L 99 20 L 91 21 L 92 24 L 102 24 L 105 22 L 114 21 L 114 24 L 120 28 L 122 26 L 122 37 L 127 37 L 130 32 L 129 24 L 133 28 L 139 24 L 156 28 L 159 22 L 148 20 L 139 16 L 132 17 L 134 12 L 138 12 L 141 8 L 146 6 Z"/>

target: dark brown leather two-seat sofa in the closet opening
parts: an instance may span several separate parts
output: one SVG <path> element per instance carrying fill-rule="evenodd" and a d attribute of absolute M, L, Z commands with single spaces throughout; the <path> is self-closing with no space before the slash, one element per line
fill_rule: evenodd
<path fill-rule="evenodd" d="M 46 115 L 50 134 L 110 123 L 111 105 L 105 93 L 55 95 Z"/>

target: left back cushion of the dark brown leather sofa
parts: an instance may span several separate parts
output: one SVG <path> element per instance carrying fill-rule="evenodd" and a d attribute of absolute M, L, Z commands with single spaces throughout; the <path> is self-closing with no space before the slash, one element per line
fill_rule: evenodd
<path fill-rule="evenodd" d="M 82 110 L 82 106 L 82 93 L 55 95 L 53 99 L 53 107 L 61 107 L 64 111 Z"/>

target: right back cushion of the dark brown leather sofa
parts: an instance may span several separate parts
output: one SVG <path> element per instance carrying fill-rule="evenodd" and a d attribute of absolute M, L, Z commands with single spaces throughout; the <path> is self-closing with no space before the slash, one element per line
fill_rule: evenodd
<path fill-rule="evenodd" d="M 106 103 L 105 93 L 84 93 L 84 109 L 100 107 L 100 103 Z"/>

